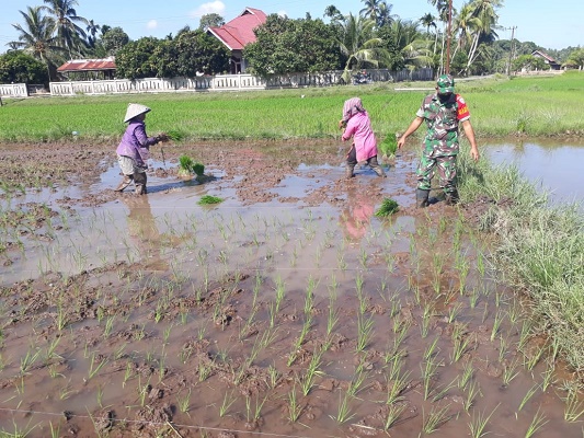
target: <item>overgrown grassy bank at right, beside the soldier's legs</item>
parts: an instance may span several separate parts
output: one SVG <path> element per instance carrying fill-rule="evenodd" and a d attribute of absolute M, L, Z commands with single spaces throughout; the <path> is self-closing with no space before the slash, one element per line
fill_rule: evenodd
<path fill-rule="evenodd" d="M 547 194 L 517 168 L 476 164 L 461 154 L 461 194 L 493 200 L 479 228 L 494 234 L 493 266 L 500 278 L 530 298 L 531 336 L 549 339 L 550 357 L 584 371 L 584 218 L 577 205 L 550 207 Z"/>

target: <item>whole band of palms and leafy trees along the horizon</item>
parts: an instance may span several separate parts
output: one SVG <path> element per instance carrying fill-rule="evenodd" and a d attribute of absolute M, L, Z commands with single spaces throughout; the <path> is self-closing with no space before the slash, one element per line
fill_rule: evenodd
<path fill-rule="evenodd" d="M 584 48 L 546 50 L 535 43 L 499 39 L 503 0 L 469 0 L 460 10 L 448 0 L 428 0 L 433 12 L 419 20 L 401 20 L 383 0 L 362 0 L 358 13 L 343 13 L 331 4 L 322 18 L 267 16 L 255 30 L 256 42 L 244 48 L 248 71 L 261 76 L 343 70 L 348 82 L 355 70 L 447 69 L 455 76 L 543 69 L 531 56 L 543 50 L 564 66 L 584 66 Z M 0 82 L 47 83 L 58 80 L 57 68 L 69 59 L 115 56 L 116 77 L 171 78 L 216 74 L 229 69 L 230 53 L 206 32 L 225 23 L 207 14 L 199 26 L 188 25 L 164 38 L 131 41 L 122 27 L 96 24 L 77 13 L 77 0 L 44 0 L 19 11 L 13 24 L 18 41 L 0 56 Z"/>

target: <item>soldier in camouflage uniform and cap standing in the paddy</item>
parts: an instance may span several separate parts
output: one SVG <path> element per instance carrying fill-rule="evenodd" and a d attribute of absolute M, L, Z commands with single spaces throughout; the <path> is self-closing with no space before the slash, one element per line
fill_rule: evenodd
<path fill-rule="evenodd" d="M 479 160 L 479 149 L 474 139 L 474 130 L 470 124 L 470 113 L 460 94 L 455 94 L 455 80 L 443 74 L 436 83 L 436 93 L 424 97 L 415 118 L 403 136 L 398 140 L 401 149 L 405 139 L 425 120 L 427 125 L 424 138 L 424 150 L 417 166 L 416 207 L 427 207 L 432 177 L 435 168 L 438 170 L 439 185 L 446 195 L 446 203 L 458 201 L 456 189 L 456 158 L 459 151 L 458 126 L 462 125 L 470 142 L 470 154 Z"/>

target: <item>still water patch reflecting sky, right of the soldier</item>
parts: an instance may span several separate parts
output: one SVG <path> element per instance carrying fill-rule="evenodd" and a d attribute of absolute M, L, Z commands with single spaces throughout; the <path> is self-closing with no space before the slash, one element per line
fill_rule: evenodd
<path fill-rule="evenodd" d="M 559 140 L 517 143 L 489 143 L 484 154 L 495 165 L 516 165 L 529 181 L 550 193 L 552 204 L 577 201 L 584 198 L 582 163 L 584 141 Z"/>

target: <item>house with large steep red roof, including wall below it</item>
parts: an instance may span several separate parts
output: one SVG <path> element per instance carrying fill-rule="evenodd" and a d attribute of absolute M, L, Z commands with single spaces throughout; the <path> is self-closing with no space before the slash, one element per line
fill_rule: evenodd
<path fill-rule="evenodd" d="M 253 30 L 264 24 L 265 21 L 266 15 L 264 12 L 259 9 L 245 8 L 239 16 L 225 23 L 222 26 L 207 28 L 207 32 L 217 37 L 231 50 L 231 73 L 245 71 L 247 65 L 242 56 L 243 47 L 255 42 Z"/>

